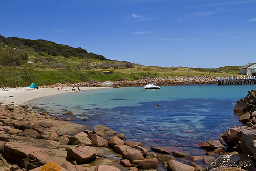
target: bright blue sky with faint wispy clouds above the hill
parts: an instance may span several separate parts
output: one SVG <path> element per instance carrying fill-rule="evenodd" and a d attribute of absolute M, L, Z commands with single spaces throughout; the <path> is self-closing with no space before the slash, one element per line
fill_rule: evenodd
<path fill-rule="evenodd" d="M 256 0 L 2 0 L 0 34 L 148 66 L 256 62 Z"/>

